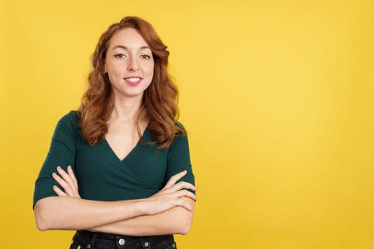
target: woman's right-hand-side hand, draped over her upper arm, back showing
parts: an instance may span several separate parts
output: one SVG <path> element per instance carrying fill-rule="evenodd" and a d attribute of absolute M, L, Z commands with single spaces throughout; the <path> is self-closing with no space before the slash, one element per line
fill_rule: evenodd
<path fill-rule="evenodd" d="M 185 208 L 190 212 L 194 211 L 194 208 L 190 205 L 190 203 L 188 203 L 188 201 L 182 197 L 191 198 L 192 200 L 196 201 L 197 196 L 186 190 L 191 189 L 196 191 L 196 187 L 185 181 L 180 181 L 177 183 L 177 181 L 186 174 L 187 171 L 182 171 L 170 177 L 163 189 L 158 191 L 153 196 L 145 199 L 145 201 L 150 204 L 149 208 L 147 209 L 149 215 L 162 213 L 176 206 Z"/>

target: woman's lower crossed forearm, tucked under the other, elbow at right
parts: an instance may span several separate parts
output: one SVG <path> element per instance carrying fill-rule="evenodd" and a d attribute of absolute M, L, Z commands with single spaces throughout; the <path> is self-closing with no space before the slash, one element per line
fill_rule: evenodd
<path fill-rule="evenodd" d="M 191 206 L 194 206 L 193 200 L 185 198 L 185 201 Z M 192 218 L 193 211 L 175 207 L 156 215 L 137 216 L 123 221 L 90 228 L 89 230 L 100 233 L 115 233 L 131 236 L 186 234 L 191 228 Z"/>

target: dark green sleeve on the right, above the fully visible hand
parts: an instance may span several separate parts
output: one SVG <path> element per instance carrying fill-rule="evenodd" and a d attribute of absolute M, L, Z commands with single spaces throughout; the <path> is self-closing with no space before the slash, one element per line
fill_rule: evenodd
<path fill-rule="evenodd" d="M 178 125 L 182 127 L 182 124 L 178 123 Z M 184 129 L 184 127 L 182 127 L 182 129 Z M 191 160 L 189 158 L 187 132 L 185 132 L 184 136 L 177 134 L 170 145 L 169 153 L 167 155 L 166 181 L 168 181 L 173 175 L 184 170 L 187 170 L 187 174 L 183 176 L 180 181 L 186 181 L 194 185 L 194 174 L 192 171 Z M 192 192 L 194 193 L 194 191 Z"/>

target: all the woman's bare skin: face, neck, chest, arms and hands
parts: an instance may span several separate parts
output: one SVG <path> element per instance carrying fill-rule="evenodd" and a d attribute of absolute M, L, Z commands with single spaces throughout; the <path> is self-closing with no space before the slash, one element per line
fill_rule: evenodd
<path fill-rule="evenodd" d="M 150 48 L 133 28 L 115 33 L 109 41 L 105 72 L 113 88 L 114 110 L 105 135 L 113 152 L 124 159 L 140 139 L 135 129 L 144 90 L 152 82 L 155 66 Z M 147 120 L 138 120 L 144 132 Z M 90 201 L 80 198 L 71 167 L 56 168 L 53 179 L 62 186 L 58 196 L 46 197 L 34 206 L 36 225 L 51 229 L 90 230 L 123 235 L 188 233 L 197 197 L 189 183 L 180 181 L 187 172 L 172 176 L 165 187 L 148 198 L 130 201 Z"/>

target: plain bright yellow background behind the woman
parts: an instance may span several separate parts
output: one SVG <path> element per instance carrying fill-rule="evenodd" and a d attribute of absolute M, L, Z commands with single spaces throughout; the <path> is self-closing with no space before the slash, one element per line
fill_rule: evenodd
<path fill-rule="evenodd" d="M 1 248 L 41 233 L 33 184 L 123 16 L 171 52 L 198 196 L 179 248 L 374 248 L 372 1 L 0 2 Z"/>

